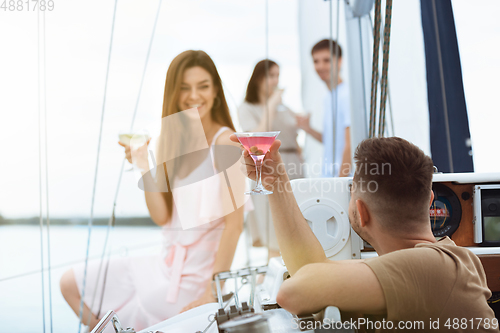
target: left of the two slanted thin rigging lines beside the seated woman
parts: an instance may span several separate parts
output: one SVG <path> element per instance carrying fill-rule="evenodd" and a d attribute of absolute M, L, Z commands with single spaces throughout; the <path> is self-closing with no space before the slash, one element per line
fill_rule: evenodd
<path fill-rule="evenodd" d="M 102 111 L 101 111 L 101 123 L 99 126 L 99 140 L 97 143 L 97 159 L 96 159 L 96 165 L 95 165 L 95 173 L 94 173 L 94 185 L 92 189 L 92 201 L 90 205 L 90 219 L 89 219 L 89 233 L 88 233 L 88 239 L 87 239 L 87 254 L 85 256 L 85 268 L 84 268 L 84 273 L 83 273 L 83 286 L 82 286 L 82 294 L 81 294 L 81 300 L 80 300 L 80 314 L 78 316 L 78 333 L 80 333 L 80 330 L 82 328 L 82 325 L 80 323 L 82 322 L 83 319 L 83 300 L 85 297 L 85 286 L 87 282 L 87 266 L 88 266 L 88 257 L 89 257 L 89 249 L 90 249 L 90 237 L 91 237 L 91 232 L 92 232 L 92 222 L 94 219 L 94 200 L 95 200 L 95 192 L 96 192 L 96 186 L 97 186 L 97 171 L 99 169 L 99 156 L 100 156 L 100 151 L 101 151 L 101 139 L 102 139 L 102 127 L 104 123 L 104 110 L 106 107 L 106 93 L 107 93 L 107 87 L 108 87 L 108 76 L 109 76 L 109 65 L 111 62 L 111 50 L 113 47 L 113 35 L 114 35 L 114 30 L 115 30 L 115 18 L 116 18 L 116 7 L 118 4 L 118 0 L 115 0 L 115 5 L 113 9 L 113 23 L 111 25 L 111 37 L 109 41 L 109 51 L 108 51 L 108 63 L 106 67 L 106 78 L 104 81 L 104 96 L 103 96 L 103 101 L 102 101 Z"/>

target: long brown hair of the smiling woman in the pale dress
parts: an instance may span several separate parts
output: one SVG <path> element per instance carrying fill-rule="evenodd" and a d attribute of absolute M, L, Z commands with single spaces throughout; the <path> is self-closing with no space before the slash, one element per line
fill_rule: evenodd
<path fill-rule="evenodd" d="M 179 101 L 181 83 L 184 76 L 184 72 L 189 68 L 198 66 L 205 69 L 210 74 L 210 76 L 212 77 L 214 88 L 217 91 L 217 95 L 215 97 L 212 110 L 210 110 L 210 116 L 212 120 L 218 123 L 219 125 L 227 126 L 234 131 L 235 130 L 234 124 L 231 119 L 231 115 L 229 113 L 229 107 L 226 102 L 224 90 L 222 89 L 222 81 L 220 79 L 219 73 L 217 72 L 217 68 L 215 67 L 213 60 L 210 58 L 208 54 L 206 54 L 203 51 L 194 51 L 194 50 L 184 51 L 177 57 L 175 57 L 174 60 L 172 60 L 172 62 L 170 63 L 170 66 L 168 67 L 167 71 L 167 78 L 165 80 L 162 119 L 165 119 L 165 117 L 168 117 L 179 111 L 182 111 L 179 110 L 178 101 Z M 164 121 L 162 121 L 162 133 L 165 130 L 167 130 L 166 128 L 164 128 L 163 124 L 165 124 Z M 171 137 L 172 136 L 170 136 L 170 138 Z M 179 156 L 178 154 L 172 152 L 169 152 L 167 154 L 167 149 L 175 149 L 176 151 L 182 151 L 182 146 L 185 144 L 185 142 L 187 142 L 186 140 L 189 139 L 190 139 L 189 131 L 181 130 L 179 131 L 179 135 L 176 136 L 175 138 L 175 143 L 166 142 L 165 140 L 163 141 L 159 140 L 157 160 L 161 164 L 163 164 L 164 162 L 169 160 L 167 156 Z M 168 165 L 168 167 L 166 167 L 166 165 Z M 167 204 L 168 218 L 170 220 L 172 217 L 173 204 L 174 204 L 173 195 L 171 191 L 172 180 L 175 178 L 174 175 L 176 173 L 176 170 L 179 168 L 179 163 L 177 162 L 177 159 L 173 159 L 166 165 L 165 166 L 160 165 L 159 171 L 161 172 L 165 170 L 165 173 L 168 174 L 166 178 L 168 182 L 169 191 L 162 192 L 162 194 Z M 157 172 L 157 175 L 160 172 Z"/>

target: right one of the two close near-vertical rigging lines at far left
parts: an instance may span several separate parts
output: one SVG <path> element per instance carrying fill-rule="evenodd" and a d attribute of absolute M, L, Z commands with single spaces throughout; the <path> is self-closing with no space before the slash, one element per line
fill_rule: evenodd
<path fill-rule="evenodd" d="M 51 255 L 50 255 L 50 217 L 49 217 L 49 144 L 48 144 L 48 131 L 47 131 L 47 66 L 46 66 L 46 52 L 45 52 L 45 11 L 43 15 L 43 109 L 45 111 L 45 200 L 47 212 L 47 265 L 49 277 L 49 318 L 50 318 L 50 332 L 53 332 L 52 324 L 52 270 L 51 270 Z"/>

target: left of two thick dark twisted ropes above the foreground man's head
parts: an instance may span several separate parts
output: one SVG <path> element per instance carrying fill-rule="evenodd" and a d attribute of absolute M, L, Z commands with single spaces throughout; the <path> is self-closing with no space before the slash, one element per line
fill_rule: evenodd
<path fill-rule="evenodd" d="M 381 20 L 381 0 L 375 2 L 375 28 L 373 30 L 373 60 L 372 60 L 372 88 L 370 96 L 370 127 L 369 137 L 375 136 L 375 124 L 377 118 L 377 88 L 378 88 L 378 56 L 380 52 L 380 20 Z M 371 24 L 371 17 L 370 17 Z"/>

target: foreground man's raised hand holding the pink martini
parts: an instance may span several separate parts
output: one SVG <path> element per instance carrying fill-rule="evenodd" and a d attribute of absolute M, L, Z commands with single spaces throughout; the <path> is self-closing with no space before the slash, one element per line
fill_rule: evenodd
<path fill-rule="evenodd" d="M 235 134 L 229 138 L 231 141 L 239 142 Z M 286 176 L 285 165 L 278 151 L 280 146 L 280 140 L 274 141 L 262 161 L 262 185 L 270 191 L 277 185 L 280 177 Z M 257 172 L 255 162 L 243 145 L 240 148 L 242 150 L 241 163 L 243 164 L 243 172 L 248 178 L 256 181 Z"/>

